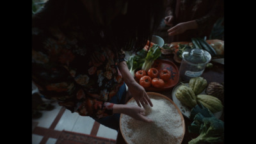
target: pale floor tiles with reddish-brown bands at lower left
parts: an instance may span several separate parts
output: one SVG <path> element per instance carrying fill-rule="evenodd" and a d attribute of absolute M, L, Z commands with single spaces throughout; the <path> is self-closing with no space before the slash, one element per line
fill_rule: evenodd
<path fill-rule="evenodd" d="M 71 113 L 68 109 L 59 106 L 57 102 L 52 102 L 52 105 L 55 106 L 54 109 L 40 111 L 42 116 L 32 119 L 33 144 L 54 144 L 63 130 L 116 140 L 117 131 L 95 122 L 89 116 Z"/>

